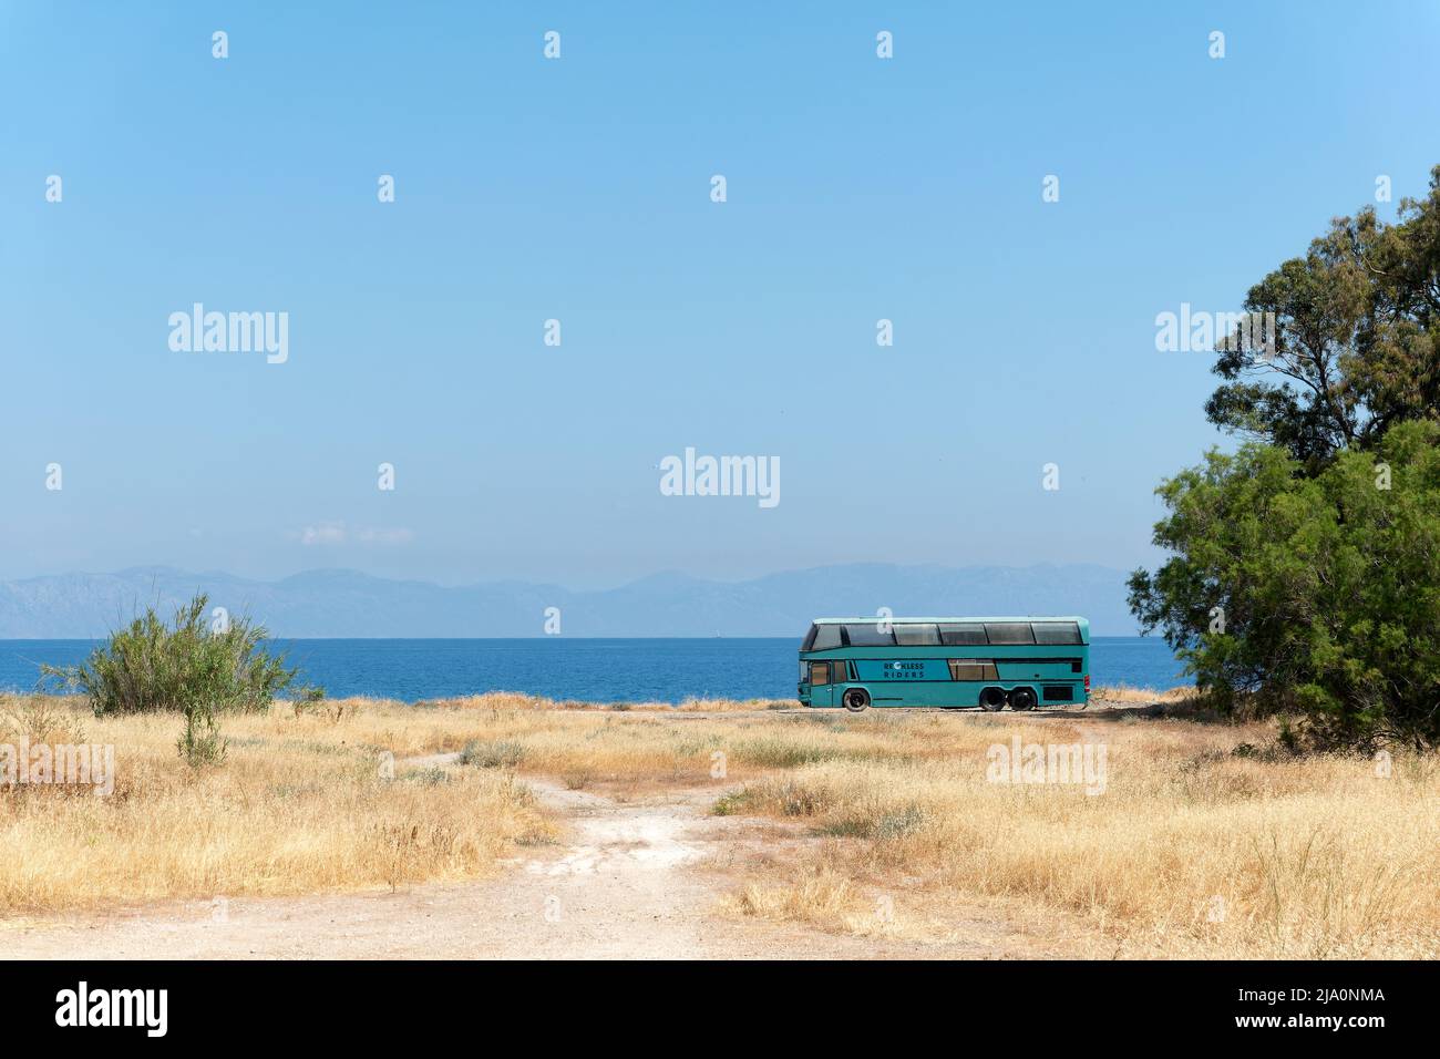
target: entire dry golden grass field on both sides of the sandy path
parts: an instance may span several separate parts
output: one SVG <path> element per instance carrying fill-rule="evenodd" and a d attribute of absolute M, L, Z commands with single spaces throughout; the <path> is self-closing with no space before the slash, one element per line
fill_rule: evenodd
<path fill-rule="evenodd" d="M 20 852 L 0 866 L 0 911 L 482 875 L 556 834 L 518 772 L 621 797 L 710 787 L 717 813 L 812 836 L 749 869 L 739 915 L 937 939 L 992 906 L 1074 955 L 1440 955 L 1434 756 L 1395 752 L 1381 777 L 1368 759 L 1248 752 L 1273 745 L 1270 725 L 1215 723 L 1184 696 L 1109 702 L 1018 718 L 350 699 L 228 718 L 226 764 L 199 772 L 176 755 L 179 718 L 68 702 L 24 723 L 114 743 L 115 794 L 0 791 L 0 841 Z M 988 749 L 1017 735 L 1103 745 L 1104 792 L 988 781 Z M 456 751 L 468 765 L 403 764 Z"/>

